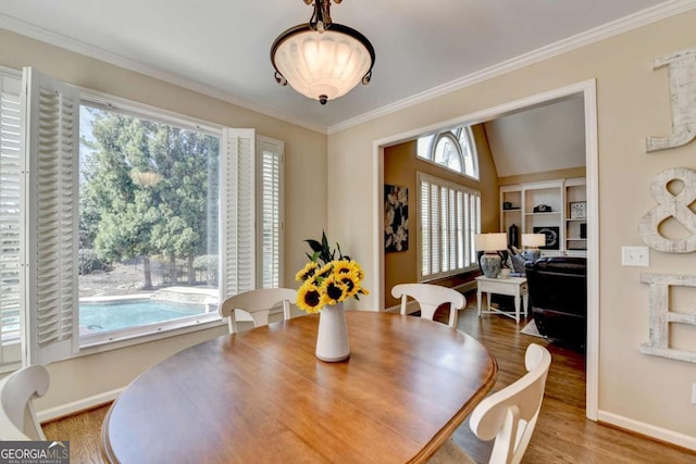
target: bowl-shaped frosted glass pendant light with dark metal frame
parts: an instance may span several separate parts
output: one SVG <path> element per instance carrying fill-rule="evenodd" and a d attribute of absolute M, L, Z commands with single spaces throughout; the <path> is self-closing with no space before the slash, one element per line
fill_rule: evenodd
<path fill-rule="evenodd" d="M 341 0 L 334 0 L 340 3 Z M 314 3 L 309 23 L 290 27 L 271 47 L 275 80 L 321 104 L 348 93 L 358 83 L 368 85 L 374 66 L 370 40 L 356 29 L 331 20 L 330 0 Z"/>

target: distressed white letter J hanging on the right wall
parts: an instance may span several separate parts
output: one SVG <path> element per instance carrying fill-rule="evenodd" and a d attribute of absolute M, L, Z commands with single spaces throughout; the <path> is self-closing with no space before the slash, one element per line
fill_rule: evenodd
<path fill-rule="evenodd" d="M 672 134 L 669 137 L 648 137 L 648 152 L 681 147 L 696 137 L 696 48 L 658 58 L 652 70 L 664 66 L 670 79 Z"/>

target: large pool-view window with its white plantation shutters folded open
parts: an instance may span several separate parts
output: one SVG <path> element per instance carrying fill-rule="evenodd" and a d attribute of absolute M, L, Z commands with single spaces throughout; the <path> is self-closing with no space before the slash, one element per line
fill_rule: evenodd
<path fill-rule="evenodd" d="M 80 102 L 32 68 L 0 78 L 0 371 L 210 326 L 220 297 L 283 284 L 283 142 L 105 96 Z M 85 279 L 115 267 L 139 274 Z M 147 313 L 141 290 L 183 286 L 203 298 L 195 313 Z M 95 309 L 125 300 L 139 302 Z"/>

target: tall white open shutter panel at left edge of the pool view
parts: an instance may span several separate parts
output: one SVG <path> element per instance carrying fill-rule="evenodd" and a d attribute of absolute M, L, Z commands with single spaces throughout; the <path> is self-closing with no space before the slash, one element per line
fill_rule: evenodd
<path fill-rule="evenodd" d="M 46 364 L 77 349 L 79 98 L 73 87 L 25 67 L 23 99 L 26 361 Z"/>

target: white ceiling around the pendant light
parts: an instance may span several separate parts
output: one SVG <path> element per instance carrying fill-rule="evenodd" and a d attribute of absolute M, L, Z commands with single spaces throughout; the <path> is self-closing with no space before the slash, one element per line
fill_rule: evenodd
<path fill-rule="evenodd" d="M 0 0 L 0 27 L 327 130 L 679 1 L 345 0 L 334 22 L 364 34 L 376 62 L 369 86 L 325 106 L 273 78 L 273 40 L 311 15 L 301 0 Z"/>

